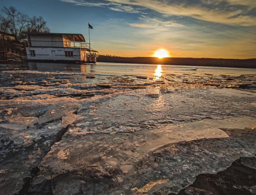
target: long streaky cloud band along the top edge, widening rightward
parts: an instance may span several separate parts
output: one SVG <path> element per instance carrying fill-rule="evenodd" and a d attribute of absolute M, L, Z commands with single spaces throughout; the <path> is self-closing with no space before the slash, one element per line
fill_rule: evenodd
<path fill-rule="evenodd" d="M 150 13 L 149 10 L 167 15 L 190 17 L 192 19 L 220 22 L 238 26 L 255 26 L 247 20 L 256 20 L 256 1 L 244 0 L 245 5 L 237 4 L 237 0 L 61 0 L 81 6 L 104 6 L 113 11 L 127 13 Z M 161 2 L 163 1 L 163 2 Z M 234 3 L 237 2 L 237 3 Z M 167 4 L 170 5 L 167 5 Z M 232 17 L 236 16 L 236 17 Z M 238 18 L 237 18 L 238 17 Z"/>

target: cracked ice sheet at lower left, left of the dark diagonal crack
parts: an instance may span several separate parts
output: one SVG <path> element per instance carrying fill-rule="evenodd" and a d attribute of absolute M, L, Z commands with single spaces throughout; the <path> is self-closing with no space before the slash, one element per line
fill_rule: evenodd
<path fill-rule="evenodd" d="M 4 194 L 19 193 L 30 182 L 51 145 L 77 118 L 73 112 L 79 104 L 60 99 L 0 100 L 0 107 L 5 108 L 0 123 L 0 188 Z"/>

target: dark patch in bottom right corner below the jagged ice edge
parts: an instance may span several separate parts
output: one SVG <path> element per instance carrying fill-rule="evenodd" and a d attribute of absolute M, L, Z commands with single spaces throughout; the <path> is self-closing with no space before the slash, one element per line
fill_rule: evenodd
<path fill-rule="evenodd" d="M 250 168 L 251 166 L 243 163 L 246 161 L 251 164 L 255 159 L 255 157 L 241 157 L 234 161 L 226 170 L 217 174 L 198 175 L 195 182 L 189 187 L 182 189 L 178 195 L 255 194 L 256 169 Z M 174 195 L 174 193 L 170 195 Z"/>

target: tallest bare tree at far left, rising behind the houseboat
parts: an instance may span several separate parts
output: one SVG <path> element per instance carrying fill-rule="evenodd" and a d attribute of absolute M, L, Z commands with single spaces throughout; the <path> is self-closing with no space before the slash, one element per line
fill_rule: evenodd
<path fill-rule="evenodd" d="M 26 29 L 28 16 L 26 14 L 22 14 L 15 7 L 10 6 L 7 8 L 4 6 L 2 8 L 2 12 L 6 14 L 7 20 L 9 20 L 8 31 L 11 33 L 16 41 L 21 41 L 23 38 L 23 32 Z"/>

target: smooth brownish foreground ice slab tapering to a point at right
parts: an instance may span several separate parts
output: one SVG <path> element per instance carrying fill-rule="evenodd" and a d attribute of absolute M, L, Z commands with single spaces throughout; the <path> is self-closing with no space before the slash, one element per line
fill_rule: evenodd
<path fill-rule="evenodd" d="M 244 121 L 245 119 L 233 118 L 231 121 L 235 120 Z M 217 123 L 218 121 L 215 125 Z M 204 122 L 181 123 L 179 126 L 173 124 L 128 135 L 119 133 L 77 136 L 67 131 L 61 142 L 51 148 L 40 165 L 42 170 L 44 170 L 43 167 L 50 166 L 52 177 L 69 171 L 80 171 L 92 164 L 107 170 L 109 161 L 116 162 L 113 169 L 124 165 L 135 167 L 140 160 L 164 146 L 193 139 L 221 137 L 229 136 L 219 128 Z M 63 159 L 64 161 L 57 160 L 59 152 L 63 153 L 64 150 L 69 151 L 67 158 Z M 126 172 L 126 169 L 124 170 Z M 106 172 L 103 173 L 106 174 Z"/>

